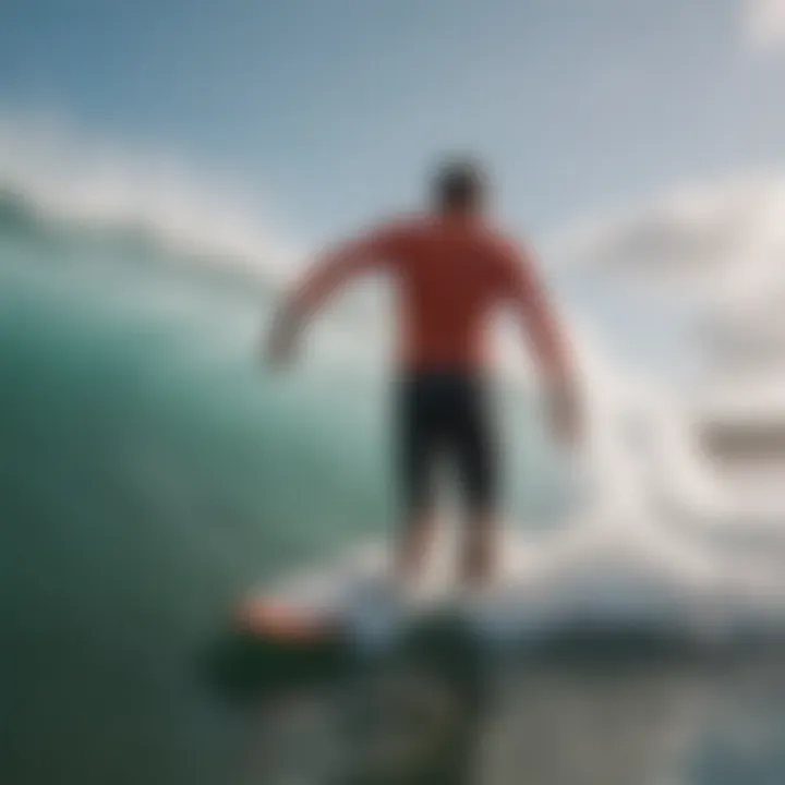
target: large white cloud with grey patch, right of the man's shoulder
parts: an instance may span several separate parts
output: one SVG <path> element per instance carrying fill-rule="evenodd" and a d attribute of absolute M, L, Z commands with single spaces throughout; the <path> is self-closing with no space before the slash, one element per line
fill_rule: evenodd
<path fill-rule="evenodd" d="M 565 232 L 551 255 L 579 278 L 678 299 L 695 328 L 684 346 L 728 370 L 785 363 L 785 178 L 675 189 Z"/>

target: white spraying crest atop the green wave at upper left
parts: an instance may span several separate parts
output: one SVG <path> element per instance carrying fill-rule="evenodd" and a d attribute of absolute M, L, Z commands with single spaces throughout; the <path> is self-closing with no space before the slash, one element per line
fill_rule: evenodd
<path fill-rule="evenodd" d="M 0 116 L 3 233 L 286 277 L 302 250 L 271 231 L 269 210 L 238 190 L 194 177 L 171 156 L 132 154 L 62 123 Z"/>

